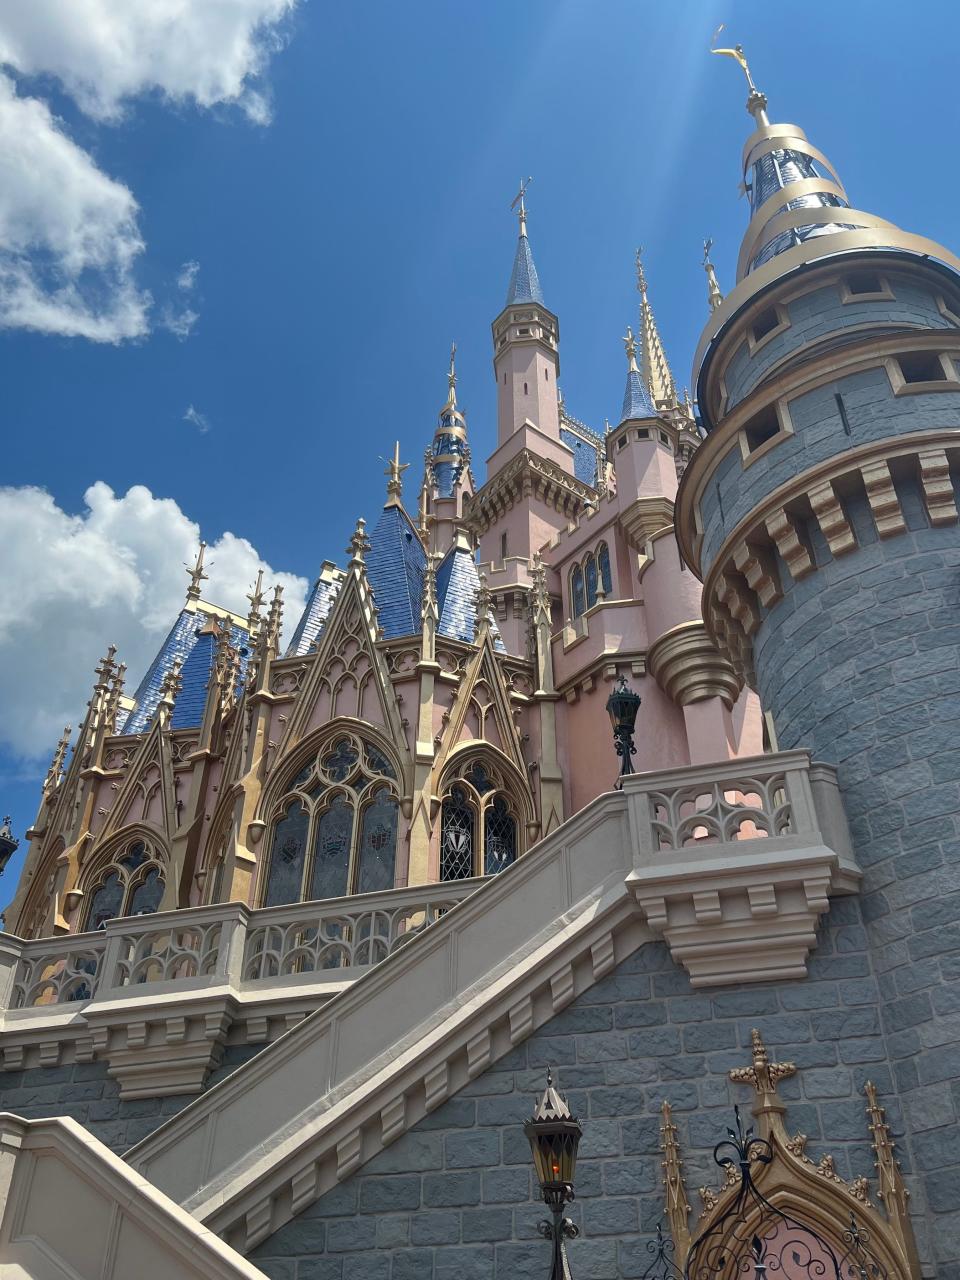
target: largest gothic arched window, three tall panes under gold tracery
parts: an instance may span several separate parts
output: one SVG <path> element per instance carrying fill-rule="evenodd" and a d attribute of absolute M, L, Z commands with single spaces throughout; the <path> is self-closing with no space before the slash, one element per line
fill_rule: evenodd
<path fill-rule="evenodd" d="M 393 888 L 398 824 L 396 769 L 370 742 L 339 733 L 276 804 L 264 906 Z"/>

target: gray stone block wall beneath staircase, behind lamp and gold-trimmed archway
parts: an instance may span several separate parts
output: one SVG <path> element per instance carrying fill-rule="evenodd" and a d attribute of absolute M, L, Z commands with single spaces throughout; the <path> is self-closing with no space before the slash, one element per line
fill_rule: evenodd
<path fill-rule="evenodd" d="M 791 1130 L 809 1135 L 814 1158 L 828 1149 L 845 1178 L 873 1174 L 868 1078 L 901 1132 L 881 1005 L 854 899 L 835 902 L 804 982 L 694 992 L 666 947 L 646 945 L 276 1231 L 252 1261 L 273 1280 L 543 1280 L 549 1249 L 535 1224 L 544 1208 L 522 1125 L 549 1065 L 584 1125 L 572 1274 L 643 1276 L 664 1212 L 660 1102 L 673 1106 L 699 1211 L 696 1188 L 719 1183 L 709 1152 L 732 1121 L 732 1103 L 750 1105 L 751 1092 L 726 1073 L 749 1062 L 751 1027 L 773 1056 L 801 1069 L 781 1093 Z M 942 1239 L 950 1230 L 960 1257 L 957 1228 Z M 919 1231 L 929 1248 L 923 1221 Z"/>

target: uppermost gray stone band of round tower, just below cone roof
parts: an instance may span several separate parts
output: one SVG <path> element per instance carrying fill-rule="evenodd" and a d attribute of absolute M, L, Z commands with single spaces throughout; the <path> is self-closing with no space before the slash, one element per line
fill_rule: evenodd
<path fill-rule="evenodd" d="M 869 268 L 868 268 L 869 269 Z M 851 265 L 851 271 L 856 270 Z M 746 339 L 730 358 L 723 383 L 727 388 L 727 407 L 735 408 L 756 387 L 769 369 L 780 364 L 791 351 L 801 351 L 824 334 L 856 325 L 890 324 L 896 321 L 922 329 L 950 329 L 952 325 L 941 315 L 933 292 L 911 283 L 906 276 L 887 273 L 893 301 L 874 302 L 864 298 L 842 302 L 840 283 L 828 284 L 785 303 L 790 328 L 764 343 L 750 355 Z"/>

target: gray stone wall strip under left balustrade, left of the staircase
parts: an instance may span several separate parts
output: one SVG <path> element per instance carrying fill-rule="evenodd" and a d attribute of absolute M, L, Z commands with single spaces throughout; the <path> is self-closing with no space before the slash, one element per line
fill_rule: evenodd
<path fill-rule="evenodd" d="M 206 1088 L 236 1071 L 261 1047 L 229 1046 L 223 1062 L 209 1076 Z M 26 1120 L 70 1116 L 120 1155 L 196 1097 L 195 1093 L 183 1093 L 168 1098 L 123 1101 L 119 1094 L 119 1084 L 108 1075 L 106 1062 L 0 1071 L 0 1111 L 13 1111 Z"/>

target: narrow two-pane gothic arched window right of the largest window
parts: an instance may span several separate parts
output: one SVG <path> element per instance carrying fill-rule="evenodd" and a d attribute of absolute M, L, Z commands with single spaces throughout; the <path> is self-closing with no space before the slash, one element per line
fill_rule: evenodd
<path fill-rule="evenodd" d="M 440 879 L 495 876 L 517 860 L 517 805 L 495 768 L 463 764 L 440 806 Z"/>

